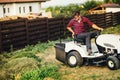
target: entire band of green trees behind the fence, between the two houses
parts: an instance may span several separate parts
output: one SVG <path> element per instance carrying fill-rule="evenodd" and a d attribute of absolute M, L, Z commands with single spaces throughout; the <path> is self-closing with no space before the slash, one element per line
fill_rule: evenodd
<path fill-rule="evenodd" d="M 71 17 L 73 11 L 80 11 L 81 15 L 88 15 L 89 13 L 87 10 L 94 8 L 103 2 L 101 1 L 87 1 L 83 4 L 69 4 L 67 6 L 55 6 L 55 7 L 48 7 L 46 12 L 52 12 L 53 17 Z"/>

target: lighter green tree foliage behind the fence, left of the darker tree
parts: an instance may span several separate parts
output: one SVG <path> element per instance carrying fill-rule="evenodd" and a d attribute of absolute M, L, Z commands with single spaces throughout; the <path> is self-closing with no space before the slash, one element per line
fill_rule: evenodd
<path fill-rule="evenodd" d="M 69 17 L 72 15 L 72 12 L 75 10 L 80 11 L 79 4 L 70 4 L 68 6 L 55 6 L 55 7 L 48 7 L 46 11 L 51 11 L 53 17 Z"/>

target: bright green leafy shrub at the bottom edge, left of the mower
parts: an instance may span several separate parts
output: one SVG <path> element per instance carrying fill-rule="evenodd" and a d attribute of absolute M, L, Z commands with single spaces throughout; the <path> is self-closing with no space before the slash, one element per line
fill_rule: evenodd
<path fill-rule="evenodd" d="M 40 69 L 23 73 L 21 80 L 43 80 L 44 78 L 52 78 L 61 80 L 60 74 L 57 72 L 58 67 L 55 65 L 44 65 Z"/>

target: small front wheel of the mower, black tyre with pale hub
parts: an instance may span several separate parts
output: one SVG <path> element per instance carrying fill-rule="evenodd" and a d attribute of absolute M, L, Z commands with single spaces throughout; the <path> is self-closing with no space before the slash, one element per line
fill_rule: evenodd
<path fill-rule="evenodd" d="M 115 56 L 109 56 L 107 58 L 107 67 L 110 70 L 117 70 L 120 67 L 120 61 Z"/>

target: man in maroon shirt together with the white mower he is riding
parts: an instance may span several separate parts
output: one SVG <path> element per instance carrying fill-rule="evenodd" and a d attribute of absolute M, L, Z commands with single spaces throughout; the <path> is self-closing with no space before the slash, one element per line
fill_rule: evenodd
<path fill-rule="evenodd" d="M 85 24 L 94 29 L 103 30 L 88 18 L 81 17 L 79 12 L 75 12 L 74 18 L 67 25 L 67 29 L 72 32 L 74 41 L 56 43 L 56 59 L 71 67 L 82 66 L 86 63 L 98 65 L 105 62 L 109 69 L 119 69 L 120 36 L 86 32 Z M 91 47 L 90 40 L 93 37 L 95 38 L 95 45 Z"/>

